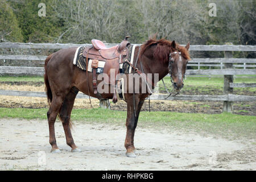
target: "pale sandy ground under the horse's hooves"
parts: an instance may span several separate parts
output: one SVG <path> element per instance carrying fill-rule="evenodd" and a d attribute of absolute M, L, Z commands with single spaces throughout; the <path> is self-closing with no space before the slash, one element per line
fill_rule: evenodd
<path fill-rule="evenodd" d="M 61 123 L 55 126 L 59 154 L 49 152 L 47 121 L 0 119 L 0 170 L 256 169 L 255 140 L 227 140 L 138 126 L 138 156 L 127 158 L 125 123 L 75 122 L 73 137 L 80 153 L 70 152 Z"/>

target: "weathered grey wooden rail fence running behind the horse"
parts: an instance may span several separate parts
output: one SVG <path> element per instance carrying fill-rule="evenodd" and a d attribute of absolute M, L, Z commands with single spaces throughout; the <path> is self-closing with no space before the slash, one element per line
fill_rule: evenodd
<path fill-rule="evenodd" d="M 111 47 L 117 44 L 108 44 Z M 91 46 L 91 44 L 34 44 L 34 43 L 0 43 L 0 48 L 29 48 L 29 49 L 61 49 L 73 46 Z M 194 100 L 194 101 L 223 101 L 223 111 L 232 112 L 233 101 L 256 101 L 256 96 L 238 96 L 233 94 L 233 88 L 256 87 L 255 83 L 238 84 L 233 83 L 235 75 L 256 75 L 256 59 L 233 58 L 232 51 L 253 51 L 256 52 L 256 46 L 190 46 L 190 51 L 224 51 L 224 57 L 221 58 L 193 58 L 189 61 L 188 66 L 196 66 L 197 69 L 188 69 L 186 75 L 190 76 L 224 76 L 224 94 L 221 96 L 210 95 L 178 95 L 169 97 L 167 100 Z M 0 55 L 0 60 L 35 60 L 40 64 L 44 64 L 47 56 L 35 55 Z M 200 67 L 219 67 L 220 69 L 200 69 Z M 241 68 L 241 69 L 240 69 Z M 249 69 L 247 69 L 249 68 Z M 43 67 L 11 67 L 1 66 L 0 74 L 15 74 L 15 75 L 44 75 Z M 5 96 L 26 96 L 26 97 L 46 97 L 44 92 L 26 92 L 15 90 L 0 90 L 0 95 Z M 164 100 L 166 95 L 152 95 L 151 100 Z M 77 98 L 88 98 L 88 96 L 79 93 Z"/>

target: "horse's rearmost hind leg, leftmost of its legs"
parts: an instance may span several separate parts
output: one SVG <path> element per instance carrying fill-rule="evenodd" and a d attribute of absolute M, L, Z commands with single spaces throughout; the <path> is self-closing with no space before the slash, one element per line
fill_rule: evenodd
<path fill-rule="evenodd" d="M 60 96 L 55 96 L 52 99 L 51 105 L 47 112 L 48 125 L 49 125 L 49 143 L 52 146 L 51 152 L 60 152 L 59 147 L 57 147 L 56 137 L 55 137 L 55 127 L 54 123 L 56 121 L 57 113 L 61 107 L 63 99 Z"/>

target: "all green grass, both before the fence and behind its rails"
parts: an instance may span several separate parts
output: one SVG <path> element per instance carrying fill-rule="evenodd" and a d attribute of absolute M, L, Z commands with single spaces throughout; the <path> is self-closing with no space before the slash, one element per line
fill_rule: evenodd
<path fill-rule="evenodd" d="M 210 89 L 222 90 L 223 78 L 187 77 L 184 89 L 191 89 L 186 85 L 197 87 L 209 92 Z M 0 81 L 43 81 L 43 77 L 30 76 L 2 76 Z M 164 78 L 167 88 L 170 89 L 170 78 Z M 234 82 L 256 82 L 255 78 L 236 78 Z M 207 88 L 208 86 L 208 88 Z M 164 90 L 162 81 L 159 82 L 160 90 Z M 240 88 L 237 88 L 240 89 Z M 255 91 L 255 88 L 246 88 Z M 213 91 L 212 91 L 213 92 Z M 210 92 L 209 92 L 210 93 Z M 193 94 L 193 93 L 192 93 Z M 195 105 L 197 102 L 188 102 Z M 247 105 L 249 107 L 249 105 Z M 201 107 L 208 108 L 209 105 Z M 24 109 L 24 108 L 0 108 L 0 118 L 23 118 L 23 119 L 47 119 L 48 109 Z M 246 112 L 241 110 L 241 112 Z M 124 125 L 126 111 L 114 111 L 105 109 L 74 109 L 71 116 L 77 122 L 105 122 Z M 175 113 L 169 111 L 154 111 L 148 113 L 142 111 L 139 117 L 139 126 L 157 129 L 181 129 L 182 131 L 196 131 L 225 136 L 233 135 L 254 137 L 256 135 L 256 117 L 249 115 L 237 115 L 230 113 L 222 114 L 199 114 L 199 113 Z"/>

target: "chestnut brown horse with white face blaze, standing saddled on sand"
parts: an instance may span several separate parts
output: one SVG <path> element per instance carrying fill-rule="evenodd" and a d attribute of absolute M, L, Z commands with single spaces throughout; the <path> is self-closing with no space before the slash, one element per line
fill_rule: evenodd
<path fill-rule="evenodd" d="M 73 65 L 73 58 L 76 52 L 76 47 L 61 49 L 49 55 L 45 63 L 44 82 L 46 84 L 46 92 L 48 102 L 50 104 L 47 112 L 49 125 L 49 143 L 52 146 L 51 152 L 60 152 L 56 144 L 54 123 L 57 115 L 62 121 L 65 137 L 68 146 L 72 152 L 79 152 L 74 140 L 72 138 L 71 126 L 71 110 L 79 91 L 90 94 L 96 97 L 92 88 L 92 72 L 88 72 L 88 79 L 86 79 L 86 72 Z M 183 77 L 187 61 L 189 58 L 189 43 L 182 47 L 175 43 L 175 41 L 168 41 L 165 39 L 155 40 L 150 39 L 142 46 L 137 46 L 134 53 L 133 73 L 143 72 L 158 74 L 158 80 L 152 76 L 152 83 L 158 82 L 168 73 L 171 75 L 174 89 L 179 92 L 183 87 Z M 138 57 L 138 58 L 137 58 Z M 137 60 L 135 65 L 135 60 Z M 126 74 L 129 75 L 129 74 Z M 88 80 L 88 83 L 86 82 Z M 127 76 L 127 80 L 129 80 Z M 148 81 L 148 80 L 147 80 Z M 88 86 L 89 88 L 88 88 Z M 105 86 L 105 85 L 104 85 Z M 139 86 L 142 86 L 140 82 Z M 127 86 L 126 88 L 128 88 Z M 142 88 L 139 89 L 140 91 Z M 89 93 L 88 93 L 89 91 Z M 124 94 L 127 102 L 127 119 L 126 119 L 126 139 L 125 148 L 126 156 L 136 157 L 134 147 L 134 133 L 138 122 L 139 113 L 144 100 L 150 96 L 150 93 L 130 93 Z M 104 98 L 112 98 L 113 93 L 105 94 Z"/>

